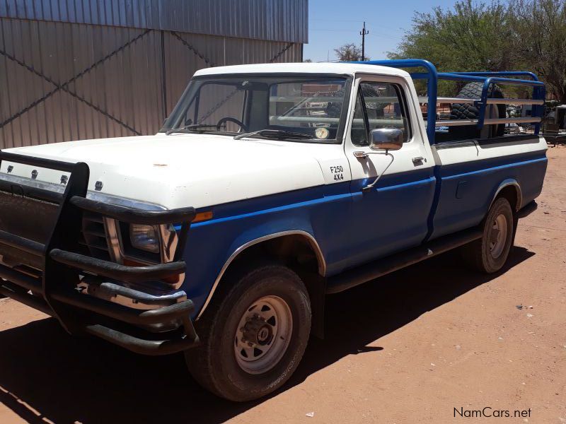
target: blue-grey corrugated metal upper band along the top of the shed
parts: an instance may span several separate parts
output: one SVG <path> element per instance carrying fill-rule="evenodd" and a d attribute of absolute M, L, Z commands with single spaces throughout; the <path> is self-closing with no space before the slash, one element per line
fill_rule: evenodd
<path fill-rule="evenodd" d="M 308 42 L 308 0 L 2 0 L 0 17 Z"/>

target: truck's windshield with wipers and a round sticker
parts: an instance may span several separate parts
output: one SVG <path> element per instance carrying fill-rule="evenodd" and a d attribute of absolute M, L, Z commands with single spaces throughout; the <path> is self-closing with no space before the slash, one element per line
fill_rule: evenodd
<path fill-rule="evenodd" d="M 275 74 L 193 78 L 161 131 L 337 142 L 347 81 Z"/>

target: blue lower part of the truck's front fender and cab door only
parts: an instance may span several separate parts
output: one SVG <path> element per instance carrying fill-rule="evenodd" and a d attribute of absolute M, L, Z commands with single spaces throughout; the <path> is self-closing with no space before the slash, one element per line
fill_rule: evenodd
<path fill-rule="evenodd" d="M 403 249 L 413 244 L 415 237 L 422 240 L 426 223 L 410 223 L 414 208 L 399 210 L 399 205 L 427 208 L 427 198 L 432 199 L 434 191 L 431 175 L 430 170 L 388 175 L 374 192 L 367 194 L 362 194 L 361 187 L 368 182 L 357 180 L 203 208 L 212 209 L 214 218 L 191 225 L 183 254 L 187 263 L 183 290 L 195 302 L 195 315 L 231 254 L 264 235 L 287 230 L 309 232 L 323 251 L 328 275 L 362 263 L 368 259 L 366 256 L 381 256 L 388 249 Z M 356 187 L 353 195 L 350 184 Z M 362 196 L 379 196 L 383 202 L 371 211 L 359 201 Z M 398 232 L 388 232 L 391 225 L 383 225 L 380 230 L 381 225 L 372 223 L 371 214 L 383 216 L 383 222 L 387 219 L 403 221 L 406 234 L 398 237 Z M 354 216 L 357 219 L 352 219 Z M 381 237 L 370 237 L 364 229 L 368 225 L 379 230 Z M 366 243 L 364 237 L 371 240 Z M 352 242 L 362 245 L 362 249 L 355 249 L 356 255 L 353 255 Z"/>

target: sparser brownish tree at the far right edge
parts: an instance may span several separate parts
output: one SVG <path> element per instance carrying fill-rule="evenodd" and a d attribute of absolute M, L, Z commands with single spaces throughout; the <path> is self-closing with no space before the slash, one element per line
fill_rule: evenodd
<path fill-rule="evenodd" d="M 510 9 L 516 64 L 538 73 L 566 103 L 566 1 L 515 0 Z"/>

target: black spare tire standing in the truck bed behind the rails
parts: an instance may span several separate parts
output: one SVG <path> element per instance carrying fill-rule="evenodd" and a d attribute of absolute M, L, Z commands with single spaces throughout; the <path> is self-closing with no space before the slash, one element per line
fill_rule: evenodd
<path fill-rule="evenodd" d="M 482 97 L 483 83 L 473 82 L 467 83 L 466 86 L 460 90 L 456 95 L 457 98 L 466 99 L 480 99 Z M 504 97 L 501 88 L 491 86 L 490 92 L 487 93 L 489 98 Z M 486 118 L 504 118 L 505 105 L 488 105 L 486 107 Z M 450 110 L 450 119 L 478 119 L 480 117 L 480 110 L 475 107 L 473 103 L 454 103 Z M 477 126 L 450 126 L 449 134 L 453 140 L 458 139 L 487 139 L 490 137 L 503 136 L 505 131 L 505 124 L 499 125 L 485 125 L 483 129 L 478 129 Z"/>

